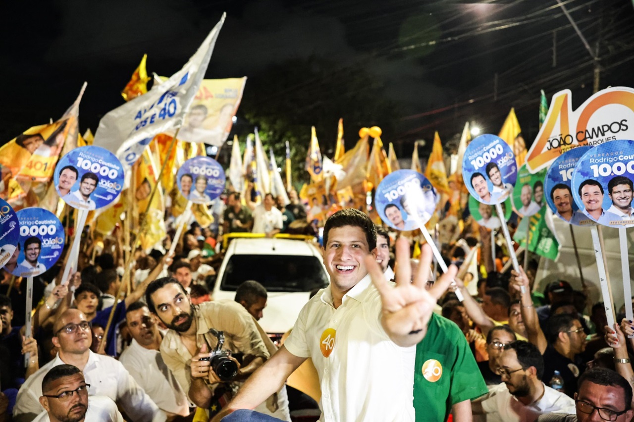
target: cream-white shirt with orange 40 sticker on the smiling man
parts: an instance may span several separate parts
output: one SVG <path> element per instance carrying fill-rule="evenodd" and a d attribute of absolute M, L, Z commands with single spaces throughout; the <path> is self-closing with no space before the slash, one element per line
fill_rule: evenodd
<path fill-rule="evenodd" d="M 295 356 L 313 359 L 320 376 L 320 421 L 414 420 L 416 347 L 392 342 L 380 318 L 381 299 L 370 276 L 337 309 L 326 288 L 300 312 L 284 345 Z"/>

